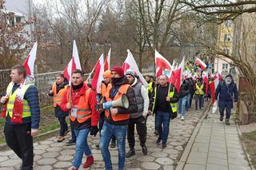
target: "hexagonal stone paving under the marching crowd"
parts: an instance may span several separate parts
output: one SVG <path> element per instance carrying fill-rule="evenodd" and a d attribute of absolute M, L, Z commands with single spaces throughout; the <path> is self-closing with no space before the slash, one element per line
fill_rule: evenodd
<path fill-rule="evenodd" d="M 154 135 L 154 117 L 149 117 L 146 140 L 148 155 L 143 155 L 138 136 L 136 136 L 136 155 L 126 159 L 126 169 L 174 169 L 200 117 L 202 117 L 202 110 L 195 111 L 192 108 L 187 112 L 185 121 L 181 121 L 180 118 L 171 121 L 169 139 L 165 149 L 162 149 L 162 144 L 155 144 L 158 136 Z M 68 135 L 70 137 L 70 134 Z M 69 137 L 66 137 L 66 141 L 69 140 Z M 53 136 L 47 140 L 34 143 L 35 170 L 71 169 L 74 158 L 74 145 L 65 146 L 64 142 L 58 143 L 56 140 L 57 137 Z M 90 169 L 103 169 L 105 166 L 102 154 L 100 150 L 95 148 L 95 144 L 98 144 L 98 136 L 89 136 L 88 140 L 94 155 L 94 165 Z M 128 150 L 128 142 L 126 140 L 126 152 Z M 118 169 L 117 148 L 110 148 L 110 155 L 113 169 Z M 82 163 L 84 160 L 82 160 Z M 14 152 L 0 152 L 0 170 L 19 169 L 21 163 L 22 161 Z M 83 169 L 82 166 L 80 169 Z"/>

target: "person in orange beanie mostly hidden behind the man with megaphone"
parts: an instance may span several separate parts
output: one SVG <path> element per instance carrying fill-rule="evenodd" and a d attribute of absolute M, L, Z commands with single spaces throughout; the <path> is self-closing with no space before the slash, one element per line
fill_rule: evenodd
<path fill-rule="evenodd" d="M 102 93 L 98 93 L 98 94 L 97 94 L 97 101 L 98 101 L 98 103 L 99 103 L 100 101 L 102 101 L 102 99 L 103 99 L 103 97 L 105 96 L 105 93 L 106 93 L 107 85 L 110 84 L 110 81 L 111 81 L 111 71 L 110 71 L 110 70 L 106 70 L 106 71 L 103 73 L 103 78 L 104 78 L 104 81 L 102 81 Z M 103 124 L 104 124 L 104 120 L 105 120 L 105 112 L 102 111 L 102 112 L 100 113 L 99 121 L 98 121 L 99 133 L 101 133 L 101 131 L 102 131 L 102 126 L 103 126 Z M 116 146 L 115 136 L 113 135 L 113 136 L 112 136 L 112 140 L 111 140 L 110 147 L 111 147 L 111 148 L 115 148 L 115 146 Z M 99 144 L 96 144 L 96 148 L 99 149 Z"/>

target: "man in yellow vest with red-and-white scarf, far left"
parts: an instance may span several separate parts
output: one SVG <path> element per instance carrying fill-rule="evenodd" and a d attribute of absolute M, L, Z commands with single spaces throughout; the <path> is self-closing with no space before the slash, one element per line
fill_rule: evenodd
<path fill-rule="evenodd" d="M 38 89 L 34 86 L 34 78 L 26 77 L 22 65 L 14 65 L 10 78 L 6 96 L 1 98 L 5 105 L 2 117 L 6 118 L 6 144 L 22 159 L 21 169 L 30 170 L 34 160 L 33 136 L 38 134 L 40 121 Z"/>

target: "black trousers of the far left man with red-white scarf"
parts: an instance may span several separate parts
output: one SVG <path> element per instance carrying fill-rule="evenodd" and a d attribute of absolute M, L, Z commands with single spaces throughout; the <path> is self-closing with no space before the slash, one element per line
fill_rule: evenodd
<path fill-rule="evenodd" d="M 30 136 L 31 124 L 10 125 L 6 123 L 4 133 L 6 144 L 22 159 L 22 170 L 33 169 L 33 137 Z"/>

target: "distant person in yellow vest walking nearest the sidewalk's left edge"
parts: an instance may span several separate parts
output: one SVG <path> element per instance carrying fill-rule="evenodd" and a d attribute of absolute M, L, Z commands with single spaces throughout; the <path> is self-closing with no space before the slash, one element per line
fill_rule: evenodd
<path fill-rule="evenodd" d="M 199 109 L 202 109 L 202 100 L 204 95 L 204 85 L 202 83 L 202 79 L 198 79 L 195 84 L 195 92 L 194 92 L 194 101 L 195 101 L 195 109 L 198 109 L 198 101 L 199 101 Z"/>

